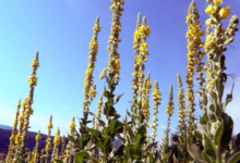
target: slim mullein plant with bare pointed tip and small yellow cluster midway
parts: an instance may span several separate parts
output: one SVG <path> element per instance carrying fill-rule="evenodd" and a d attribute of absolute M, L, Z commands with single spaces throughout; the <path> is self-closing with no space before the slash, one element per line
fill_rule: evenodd
<path fill-rule="evenodd" d="M 167 150 L 169 145 L 170 122 L 171 122 L 171 116 L 173 114 L 173 110 L 175 110 L 173 90 L 172 90 L 172 85 L 170 85 L 169 102 L 167 106 L 168 124 L 167 124 L 167 130 L 165 131 L 165 138 L 163 140 L 163 145 L 160 146 L 160 156 L 159 156 L 160 163 L 167 163 L 171 154 L 170 152 L 167 152 Z"/>

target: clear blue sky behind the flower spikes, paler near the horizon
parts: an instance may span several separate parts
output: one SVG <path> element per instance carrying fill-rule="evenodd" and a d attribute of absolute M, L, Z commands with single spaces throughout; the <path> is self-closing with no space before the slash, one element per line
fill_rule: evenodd
<path fill-rule="evenodd" d="M 191 0 L 130 0 L 125 2 L 121 18 L 122 32 L 119 45 L 121 54 L 121 82 L 116 93 L 125 91 L 124 97 L 117 104 L 121 115 L 132 99 L 132 73 L 134 62 L 133 33 L 136 26 L 137 13 L 146 16 L 151 26 L 151 37 L 147 38 L 151 55 L 146 63 L 146 71 L 151 72 L 151 79 L 159 82 L 163 93 L 163 104 L 159 105 L 158 139 L 164 137 L 167 124 L 166 108 L 169 99 L 169 86 L 173 85 L 175 114 L 171 121 L 171 133 L 178 125 L 178 83 L 177 73 L 183 79 L 187 75 L 187 39 L 188 25 L 185 17 Z M 206 2 L 195 0 L 201 24 L 204 25 Z M 37 71 L 38 85 L 34 95 L 34 115 L 31 116 L 29 130 L 47 134 L 49 116 L 53 115 L 53 134 L 60 127 L 61 135 L 67 134 L 72 116 L 82 117 L 83 85 L 88 63 L 88 45 L 93 36 L 93 26 L 97 15 L 100 16 L 101 32 L 99 33 L 99 53 L 94 72 L 97 85 L 97 98 L 91 111 L 97 111 L 97 101 L 104 89 L 104 82 L 99 75 L 108 65 L 107 41 L 111 28 L 112 2 L 110 0 L 41 0 L 0 2 L 0 124 L 12 126 L 16 104 L 28 96 L 28 77 L 32 72 L 31 63 L 35 53 L 39 51 L 40 67 Z M 226 1 L 224 5 L 232 7 L 231 13 L 240 16 L 240 1 Z M 229 18 L 224 21 L 228 25 Z M 205 26 L 204 26 L 205 29 Z M 227 112 L 240 123 L 240 34 L 228 47 L 225 53 L 228 74 L 237 76 L 233 91 L 233 102 Z M 203 40 L 205 38 L 203 37 Z M 232 80 L 229 78 L 226 92 L 230 92 Z M 197 88 L 199 83 L 195 83 Z M 152 91 L 153 92 L 153 91 Z M 225 97 L 224 97 L 225 99 Z M 153 102 L 151 103 L 153 106 Z M 153 113 L 153 108 L 151 110 Z M 202 111 L 197 106 L 196 115 Z M 151 122 L 152 123 L 152 122 Z M 240 131 L 236 125 L 235 133 Z M 149 131 L 152 133 L 152 131 Z"/>

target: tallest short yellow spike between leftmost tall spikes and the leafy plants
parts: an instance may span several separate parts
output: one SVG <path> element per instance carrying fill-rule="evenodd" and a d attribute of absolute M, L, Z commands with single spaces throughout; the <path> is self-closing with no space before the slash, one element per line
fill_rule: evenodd
<path fill-rule="evenodd" d="M 52 125 L 52 115 L 50 116 L 49 123 L 48 123 L 48 138 L 46 140 L 46 147 L 45 147 L 45 151 L 46 151 L 46 155 L 45 155 L 45 162 L 48 163 L 48 158 L 49 158 L 49 152 L 51 151 L 51 129 L 53 128 Z"/>

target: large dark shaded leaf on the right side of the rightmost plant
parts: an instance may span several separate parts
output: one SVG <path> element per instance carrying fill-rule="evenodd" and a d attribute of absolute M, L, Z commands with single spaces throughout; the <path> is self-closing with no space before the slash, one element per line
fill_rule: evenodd
<path fill-rule="evenodd" d="M 218 146 L 220 154 L 227 149 L 233 130 L 233 121 L 231 116 L 223 112 L 223 121 L 217 128 L 214 137 L 215 145 Z"/>

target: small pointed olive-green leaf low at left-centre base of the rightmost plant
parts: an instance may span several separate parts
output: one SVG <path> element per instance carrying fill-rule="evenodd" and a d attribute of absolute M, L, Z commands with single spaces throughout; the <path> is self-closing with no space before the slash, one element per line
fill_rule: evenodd
<path fill-rule="evenodd" d="M 205 134 L 203 135 L 203 147 L 206 154 L 213 160 L 216 160 L 214 143 Z"/>

